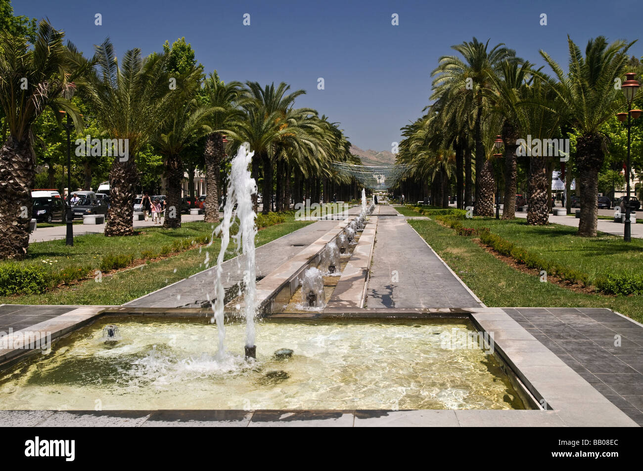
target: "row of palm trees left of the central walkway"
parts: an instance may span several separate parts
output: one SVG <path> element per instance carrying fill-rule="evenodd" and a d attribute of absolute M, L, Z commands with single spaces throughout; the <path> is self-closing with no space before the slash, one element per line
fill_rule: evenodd
<path fill-rule="evenodd" d="M 129 142 L 128 158 L 114 157 L 109 173 L 106 236 L 134 234 L 136 156 L 150 144 L 164 159 L 167 206 L 176 208 L 168 211 L 165 227 L 181 225 L 183 156 L 195 143 L 203 146 L 207 222 L 219 217 L 222 161 L 246 141 L 255 151 L 252 175 L 257 181 L 263 177 L 264 213 L 271 208 L 273 193 L 279 211 L 290 208 L 293 191 L 298 199 L 303 191 L 319 199 L 322 182 L 325 188 L 329 182 L 349 184 L 332 161 L 352 161 L 350 143 L 338 123 L 294 106 L 305 91 L 289 93 L 284 83 L 224 84 L 216 75 L 204 77 L 195 65 L 170 71 L 165 53 L 143 57 L 140 49 L 131 49 L 119 61 L 109 39 L 87 59 L 73 44 L 63 44 L 63 38 L 64 33 L 47 21 L 40 22 L 33 45 L 23 37 L 0 33 L 1 118 L 8 128 L 0 149 L 0 258 L 20 258 L 28 247 L 35 177 L 33 123 L 50 107 L 57 116 L 59 111 L 68 113 L 82 134 L 83 116 L 69 91 L 76 91 L 77 99 L 88 105 L 105 136 Z"/>

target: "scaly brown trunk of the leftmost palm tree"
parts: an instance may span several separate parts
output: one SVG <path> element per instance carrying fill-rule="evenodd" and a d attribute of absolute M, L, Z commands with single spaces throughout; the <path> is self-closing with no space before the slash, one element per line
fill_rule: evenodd
<path fill-rule="evenodd" d="M 0 149 L 0 258 L 23 258 L 29 246 L 35 178 L 29 139 L 9 136 Z"/>

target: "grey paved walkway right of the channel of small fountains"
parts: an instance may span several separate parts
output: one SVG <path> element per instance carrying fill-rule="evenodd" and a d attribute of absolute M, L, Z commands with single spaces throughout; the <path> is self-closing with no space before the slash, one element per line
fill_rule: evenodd
<path fill-rule="evenodd" d="M 466 308 L 481 303 L 392 206 L 379 206 L 367 308 Z"/>

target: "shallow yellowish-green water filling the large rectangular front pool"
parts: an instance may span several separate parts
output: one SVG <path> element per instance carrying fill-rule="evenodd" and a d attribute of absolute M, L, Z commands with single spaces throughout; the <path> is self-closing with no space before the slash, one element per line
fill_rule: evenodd
<path fill-rule="evenodd" d="M 209 318 L 102 317 L 0 372 L 0 409 L 532 408 L 493 354 L 453 341 L 475 336 L 466 319 L 266 319 L 249 362 L 244 329 L 226 325 L 217 361 Z"/>

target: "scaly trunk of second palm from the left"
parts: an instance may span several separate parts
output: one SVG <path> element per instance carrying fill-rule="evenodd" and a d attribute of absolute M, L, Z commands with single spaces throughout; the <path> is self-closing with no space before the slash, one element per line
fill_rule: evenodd
<path fill-rule="evenodd" d="M 138 185 L 136 156 L 130 154 L 124 162 L 114 159 L 109 172 L 109 197 L 111 200 L 105 225 L 105 236 L 134 235 L 134 196 Z"/>

